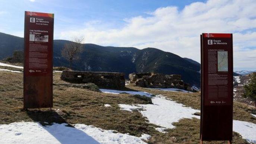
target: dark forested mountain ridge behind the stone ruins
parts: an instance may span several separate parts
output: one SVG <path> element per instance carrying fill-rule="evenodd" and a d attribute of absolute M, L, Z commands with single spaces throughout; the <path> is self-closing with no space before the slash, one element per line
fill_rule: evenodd
<path fill-rule="evenodd" d="M 9 41 L 7 41 L 9 39 Z M 0 59 L 10 57 L 15 50 L 23 50 L 23 38 L 0 33 Z M 61 48 L 67 40 L 56 39 L 53 46 L 54 66 L 68 66 L 69 62 L 61 56 Z M 83 44 L 80 60 L 72 68 L 80 71 L 108 71 L 126 73 L 154 72 L 180 74 L 192 86 L 200 87 L 200 64 L 171 52 L 157 48 L 138 49 L 134 47 L 111 47 L 96 44 Z M 191 60 L 191 59 L 190 59 Z"/>

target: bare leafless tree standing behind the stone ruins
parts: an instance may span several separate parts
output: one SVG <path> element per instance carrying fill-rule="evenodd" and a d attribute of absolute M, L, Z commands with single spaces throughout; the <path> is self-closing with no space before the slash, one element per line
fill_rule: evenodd
<path fill-rule="evenodd" d="M 69 61 L 69 67 L 72 68 L 72 62 L 79 59 L 79 54 L 83 51 L 84 36 L 75 36 L 72 42 L 64 45 L 61 50 L 61 55 Z"/>

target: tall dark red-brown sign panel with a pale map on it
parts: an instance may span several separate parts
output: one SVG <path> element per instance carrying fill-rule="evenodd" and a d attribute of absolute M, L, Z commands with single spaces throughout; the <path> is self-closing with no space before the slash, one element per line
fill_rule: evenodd
<path fill-rule="evenodd" d="M 233 132 L 233 36 L 201 35 L 201 141 L 227 140 Z"/>

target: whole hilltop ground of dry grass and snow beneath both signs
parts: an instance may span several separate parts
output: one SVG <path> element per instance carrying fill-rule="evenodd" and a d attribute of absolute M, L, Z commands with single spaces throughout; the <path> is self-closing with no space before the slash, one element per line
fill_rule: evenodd
<path fill-rule="evenodd" d="M 64 125 L 56 124 L 66 123 L 69 127 L 75 127 L 77 131 L 80 129 L 102 143 L 104 141 L 118 143 L 120 140 L 142 143 L 140 140 L 143 139 L 142 137 L 146 137 L 143 141 L 149 144 L 185 144 L 199 141 L 200 93 L 141 88 L 133 84 L 126 85 L 123 90 L 100 89 L 101 92 L 96 92 L 78 87 L 66 87 L 62 85 L 67 82 L 60 79 L 60 72 L 54 72 L 53 111 L 50 109 L 24 111 L 21 70 L 22 67 L 10 67 L 10 65 L 2 66 L 0 69 L 0 128 L 3 129 L 3 133 L 0 134 L 6 135 L 10 131 L 16 131 L 13 135 L 24 137 L 28 133 L 22 128 L 27 125 L 30 127 L 28 132 L 37 131 L 35 128 L 41 128 L 40 131 L 47 129 L 47 133 L 50 133 L 48 136 L 40 135 L 40 131 L 37 131 L 38 136 L 43 138 L 51 139 L 54 135 L 61 141 L 63 135 L 69 134 L 71 138 L 69 140 L 73 138 L 79 141 L 80 139 L 73 135 L 73 132 L 63 127 Z M 145 95 L 151 100 L 138 95 Z M 256 142 L 255 114 L 255 107 L 234 102 L 233 143 Z M 58 131 L 58 128 L 61 130 L 56 134 L 54 131 Z M 61 131 L 65 133 L 62 134 Z M 74 134 L 80 135 L 77 132 Z M 102 135 L 104 138 L 101 138 Z M 8 136 L 11 137 L 10 141 L 17 138 Z"/>

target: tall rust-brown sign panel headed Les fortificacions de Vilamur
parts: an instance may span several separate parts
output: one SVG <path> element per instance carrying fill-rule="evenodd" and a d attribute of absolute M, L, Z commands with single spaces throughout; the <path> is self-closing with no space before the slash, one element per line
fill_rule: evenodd
<path fill-rule="evenodd" d="M 53 107 L 54 14 L 25 12 L 24 108 Z"/>

